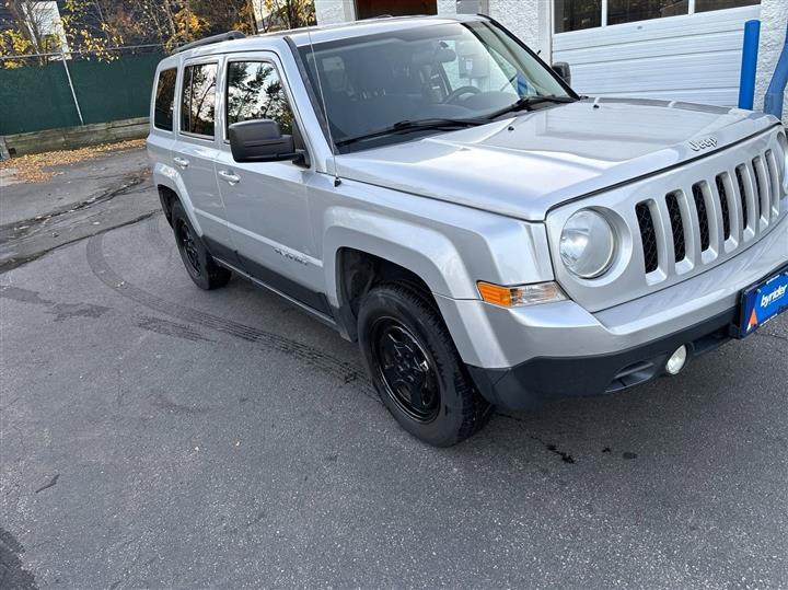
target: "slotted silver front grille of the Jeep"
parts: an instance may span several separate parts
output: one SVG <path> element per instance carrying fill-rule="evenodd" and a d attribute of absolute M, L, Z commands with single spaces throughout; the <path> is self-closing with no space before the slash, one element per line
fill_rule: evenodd
<path fill-rule="evenodd" d="M 686 188 L 635 206 L 648 275 L 662 269 L 650 282 L 708 264 L 757 239 L 779 217 L 780 184 L 770 150 L 749 161 L 698 178 Z M 665 216 L 667 219 L 661 219 Z M 664 247 L 660 247 L 660 244 Z M 672 256 L 670 244 L 673 244 Z M 660 259 L 668 253 L 669 259 Z M 676 267 L 685 259 L 688 266 Z"/>

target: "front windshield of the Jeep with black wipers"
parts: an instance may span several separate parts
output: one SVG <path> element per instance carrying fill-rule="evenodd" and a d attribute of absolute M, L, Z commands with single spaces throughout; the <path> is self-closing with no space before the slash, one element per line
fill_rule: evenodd
<path fill-rule="evenodd" d="M 305 45 L 300 53 L 318 101 L 323 90 L 339 146 L 402 122 L 477 119 L 521 99 L 572 96 L 538 59 L 489 22 L 426 24 L 315 44 L 314 53 Z M 412 138 L 394 134 L 375 138 L 374 144 Z"/>

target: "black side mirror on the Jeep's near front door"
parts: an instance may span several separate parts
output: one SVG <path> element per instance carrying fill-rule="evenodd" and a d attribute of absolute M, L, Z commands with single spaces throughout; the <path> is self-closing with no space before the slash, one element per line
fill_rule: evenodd
<path fill-rule="evenodd" d="M 236 162 L 283 162 L 296 160 L 292 136 L 283 136 L 271 119 L 233 123 L 229 129 L 230 150 Z"/>

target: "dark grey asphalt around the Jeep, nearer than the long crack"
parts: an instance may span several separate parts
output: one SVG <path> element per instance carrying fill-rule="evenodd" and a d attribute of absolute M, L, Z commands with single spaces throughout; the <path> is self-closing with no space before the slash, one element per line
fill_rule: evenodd
<path fill-rule="evenodd" d="M 0 274 L 0 337 L 3 588 L 788 585 L 786 317 L 444 450 L 160 213 Z"/>

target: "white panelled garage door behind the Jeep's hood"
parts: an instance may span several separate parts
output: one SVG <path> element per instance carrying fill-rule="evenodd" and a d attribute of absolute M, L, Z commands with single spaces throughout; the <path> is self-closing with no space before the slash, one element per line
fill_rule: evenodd
<path fill-rule="evenodd" d="M 684 15 L 601 26 L 605 19 L 625 21 L 627 14 L 611 9 L 627 0 L 592 0 L 592 5 L 587 7 L 591 11 L 575 13 L 584 1 L 557 0 L 555 4 L 556 31 L 570 31 L 554 35 L 553 61 L 569 62 L 575 90 L 590 96 L 642 96 L 735 106 L 744 22 L 760 18 L 760 5 L 692 14 L 688 12 L 694 11 L 696 2 L 704 0 L 684 0 L 670 7 Z M 567 10 L 571 2 L 576 3 Z M 662 7 L 670 3 L 656 2 Z M 628 3 L 631 5 L 633 0 Z M 595 7 L 600 9 L 600 26 L 594 26 Z M 569 18 L 567 12 L 571 12 Z M 587 28 L 572 30 L 583 26 Z"/>

